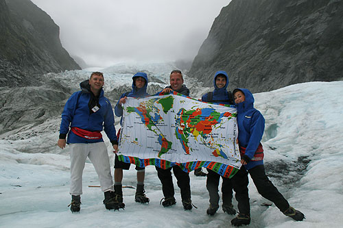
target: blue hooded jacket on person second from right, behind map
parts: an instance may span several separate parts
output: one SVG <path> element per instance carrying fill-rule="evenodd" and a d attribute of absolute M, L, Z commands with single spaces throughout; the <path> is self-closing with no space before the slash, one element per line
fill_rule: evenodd
<path fill-rule="evenodd" d="M 215 78 L 218 75 L 224 75 L 226 77 L 226 84 L 223 88 L 218 88 L 217 85 L 215 84 Z M 215 73 L 215 77 L 213 78 L 213 86 L 214 86 L 214 90 L 213 90 L 213 97 L 212 97 L 212 101 L 213 103 L 222 103 L 224 105 L 230 105 L 230 103 L 228 102 L 228 74 L 225 71 L 217 71 Z M 206 93 L 202 96 L 201 98 L 202 101 L 205 102 L 211 102 L 209 101 L 209 93 Z"/>

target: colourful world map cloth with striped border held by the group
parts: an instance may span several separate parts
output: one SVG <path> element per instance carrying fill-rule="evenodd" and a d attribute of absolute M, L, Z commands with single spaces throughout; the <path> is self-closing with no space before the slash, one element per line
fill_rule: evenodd
<path fill-rule="evenodd" d="M 119 160 L 144 167 L 206 167 L 233 177 L 241 166 L 234 106 L 171 92 L 131 98 L 123 105 Z"/>

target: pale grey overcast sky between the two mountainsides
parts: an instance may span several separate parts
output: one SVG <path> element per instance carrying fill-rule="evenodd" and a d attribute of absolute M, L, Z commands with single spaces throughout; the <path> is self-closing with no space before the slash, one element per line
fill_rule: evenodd
<path fill-rule="evenodd" d="M 91 66 L 193 60 L 229 0 L 32 0 Z"/>

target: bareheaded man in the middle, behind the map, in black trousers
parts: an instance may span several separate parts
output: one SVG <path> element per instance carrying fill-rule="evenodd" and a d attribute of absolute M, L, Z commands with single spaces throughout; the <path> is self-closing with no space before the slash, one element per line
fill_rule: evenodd
<path fill-rule="evenodd" d="M 181 71 L 171 71 L 169 80 L 170 86 L 167 86 L 161 92 L 168 93 L 174 90 L 180 94 L 189 96 L 189 89 L 183 84 L 184 81 Z M 160 94 L 161 92 L 158 92 L 157 94 Z M 183 171 L 182 168 L 180 168 L 179 166 L 173 166 L 167 169 L 163 169 L 157 166 L 155 166 L 155 168 L 157 170 L 158 179 L 160 179 L 162 183 L 164 201 L 162 199 L 161 203 L 163 207 L 171 207 L 172 205 L 176 204 L 176 199 L 174 198 L 175 191 L 173 177 L 171 177 L 172 168 L 173 173 L 177 179 L 178 187 L 180 188 L 183 208 L 185 210 L 191 210 L 193 207 L 193 203 L 191 202 L 191 179 L 189 178 L 189 173 Z"/>

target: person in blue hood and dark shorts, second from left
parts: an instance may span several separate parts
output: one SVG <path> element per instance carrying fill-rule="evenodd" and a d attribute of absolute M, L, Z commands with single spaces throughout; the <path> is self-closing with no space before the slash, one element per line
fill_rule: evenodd
<path fill-rule="evenodd" d="M 132 90 L 130 92 L 125 92 L 121 94 L 117 105 L 115 105 L 115 115 L 121 116 L 120 124 L 123 118 L 123 108 L 121 105 L 126 103 L 127 97 L 146 97 L 147 94 L 147 74 L 146 73 L 136 73 L 132 77 Z M 123 180 L 123 169 L 128 170 L 130 168 L 130 163 L 121 162 L 118 159 L 118 155 L 115 155 L 115 194 L 117 199 L 121 202 L 120 207 L 124 208 L 125 203 L 123 203 L 123 190 L 121 181 Z M 145 168 L 136 166 L 137 170 L 137 188 L 134 201 L 137 203 L 149 203 L 149 198 L 144 194 L 144 178 L 145 178 Z"/>

